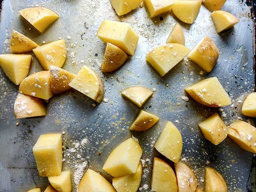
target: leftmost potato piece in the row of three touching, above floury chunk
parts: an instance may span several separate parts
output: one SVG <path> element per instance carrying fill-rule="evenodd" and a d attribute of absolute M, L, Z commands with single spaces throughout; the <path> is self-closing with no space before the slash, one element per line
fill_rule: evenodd
<path fill-rule="evenodd" d="M 20 84 L 19 91 L 41 99 L 50 99 L 49 71 L 40 71 L 27 76 Z"/>

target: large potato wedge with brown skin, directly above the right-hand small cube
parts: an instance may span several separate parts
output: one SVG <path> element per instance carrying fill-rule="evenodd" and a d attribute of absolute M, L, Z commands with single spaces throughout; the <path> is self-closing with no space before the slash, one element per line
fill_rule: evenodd
<path fill-rule="evenodd" d="M 216 77 L 198 81 L 185 88 L 185 90 L 195 101 L 202 105 L 223 107 L 231 104 L 228 94 Z"/>

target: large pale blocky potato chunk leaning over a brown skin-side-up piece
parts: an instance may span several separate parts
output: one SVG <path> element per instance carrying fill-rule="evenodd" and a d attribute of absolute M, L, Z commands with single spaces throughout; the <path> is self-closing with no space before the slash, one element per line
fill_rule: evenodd
<path fill-rule="evenodd" d="M 139 41 L 139 35 L 136 34 L 129 23 L 118 21 L 103 21 L 97 36 L 104 43 L 111 43 L 128 55 L 134 55 Z"/>

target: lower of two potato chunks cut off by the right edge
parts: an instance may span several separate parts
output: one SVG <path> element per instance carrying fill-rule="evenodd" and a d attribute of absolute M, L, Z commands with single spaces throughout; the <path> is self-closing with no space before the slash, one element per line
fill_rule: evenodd
<path fill-rule="evenodd" d="M 228 127 L 229 137 L 242 149 L 256 153 L 256 128 L 239 120 Z"/>

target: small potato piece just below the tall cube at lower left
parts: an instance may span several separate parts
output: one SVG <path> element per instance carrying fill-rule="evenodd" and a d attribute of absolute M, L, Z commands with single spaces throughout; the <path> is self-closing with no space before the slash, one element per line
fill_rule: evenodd
<path fill-rule="evenodd" d="M 48 177 L 50 184 L 59 192 L 70 192 L 71 188 L 71 178 L 70 171 L 62 171 L 58 176 Z"/>

